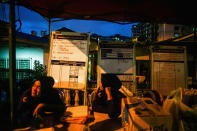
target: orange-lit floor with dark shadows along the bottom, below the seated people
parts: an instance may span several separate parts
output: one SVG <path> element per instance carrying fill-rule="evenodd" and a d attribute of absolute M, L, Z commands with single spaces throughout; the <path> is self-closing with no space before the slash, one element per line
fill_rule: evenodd
<path fill-rule="evenodd" d="M 110 119 L 107 114 L 94 113 L 95 120 L 88 124 L 66 124 L 56 125 L 50 128 L 37 129 L 35 131 L 123 131 L 121 117 Z M 16 129 L 14 131 L 32 131 L 29 127 Z M 33 130 L 34 131 L 34 130 Z"/>

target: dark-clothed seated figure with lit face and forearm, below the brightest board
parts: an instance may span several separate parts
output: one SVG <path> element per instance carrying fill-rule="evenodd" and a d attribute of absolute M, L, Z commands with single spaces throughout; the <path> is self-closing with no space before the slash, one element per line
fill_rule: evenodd
<path fill-rule="evenodd" d="M 38 121 L 43 122 L 50 112 L 54 122 L 59 122 L 66 107 L 61 101 L 59 93 L 52 88 L 54 79 L 52 77 L 41 77 L 33 82 L 31 88 L 27 89 L 21 98 L 18 111 L 20 124 L 33 126 Z M 35 125 L 38 126 L 38 125 Z"/>

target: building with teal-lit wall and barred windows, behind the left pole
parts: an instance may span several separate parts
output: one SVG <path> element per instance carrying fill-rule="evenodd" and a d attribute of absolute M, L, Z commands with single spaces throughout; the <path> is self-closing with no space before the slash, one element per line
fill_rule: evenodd
<path fill-rule="evenodd" d="M 3 21 L 0 23 L 0 79 L 7 79 L 9 78 L 9 23 Z M 47 65 L 48 52 L 48 38 L 16 32 L 16 78 L 28 77 L 36 61 Z"/>

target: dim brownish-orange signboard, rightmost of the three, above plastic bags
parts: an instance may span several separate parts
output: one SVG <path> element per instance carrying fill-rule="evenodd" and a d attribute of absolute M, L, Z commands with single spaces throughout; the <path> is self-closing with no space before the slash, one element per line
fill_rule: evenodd
<path fill-rule="evenodd" d="M 167 96 L 172 90 L 186 87 L 185 47 L 152 48 L 152 87 Z"/>

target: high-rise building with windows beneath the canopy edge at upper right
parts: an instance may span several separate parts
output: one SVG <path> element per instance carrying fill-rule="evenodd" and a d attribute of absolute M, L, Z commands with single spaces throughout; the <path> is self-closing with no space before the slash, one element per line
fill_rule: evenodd
<path fill-rule="evenodd" d="M 139 23 L 132 26 L 133 38 L 163 41 L 193 32 L 191 25 Z"/>

